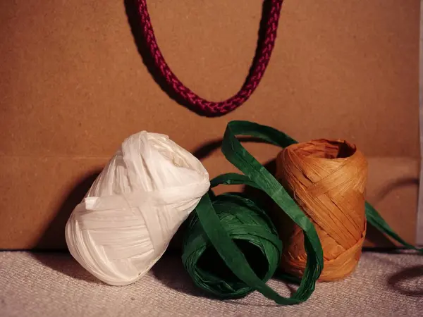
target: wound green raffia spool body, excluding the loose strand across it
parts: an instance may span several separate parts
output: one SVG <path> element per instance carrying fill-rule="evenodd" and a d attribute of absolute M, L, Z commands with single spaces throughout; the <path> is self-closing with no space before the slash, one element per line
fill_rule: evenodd
<path fill-rule="evenodd" d="M 282 254 L 282 243 L 266 213 L 240 194 L 221 194 L 212 200 L 223 229 L 243 252 L 263 281 L 271 278 Z M 209 243 L 198 216 L 193 213 L 184 242 L 183 263 L 198 287 L 220 298 L 237 298 L 253 292 L 236 277 Z"/>

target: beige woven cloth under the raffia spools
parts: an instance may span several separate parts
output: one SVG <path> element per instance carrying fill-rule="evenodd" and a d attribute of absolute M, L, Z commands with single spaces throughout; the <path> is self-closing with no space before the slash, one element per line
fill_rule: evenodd
<path fill-rule="evenodd" d="M 269 285 L 289 294 L 283 282 Z M 133 285 L 113 287 L 68 254 L 3 251 L 0 316 L 423 316 L 423 256 L 364 252 L 346 280 L 319 283 L 305 304 L 276 306 L 258 293 L 226 302 L 202 297 L 175 256 Z"/>

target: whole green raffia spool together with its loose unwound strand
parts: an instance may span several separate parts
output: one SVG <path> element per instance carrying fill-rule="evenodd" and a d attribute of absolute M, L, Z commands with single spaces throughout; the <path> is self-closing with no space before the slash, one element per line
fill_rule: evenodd
<path fill-rule="evenodd" d="M 297 142 L 266 125 L 231 121 L 223 137 L 222 152 L 243 174 L 223 174 L 214 178 L 211 184 L 212 187 L 226 184 L 260 189 L 302 229 L 307 253 L 302 279 L 298 280 L 288 274 L 279 275 L 288 282 L 299 282 L 298 290 L 286 298 L 266 285 L 276 270 L 278 259 L 275 256 L 280 256 L 282 244 L 276 242 L 274 226 L 263 216 L 262 209 L 254 201 L 238 194 L 215 196 L 211 189 L 202 197 L 196 212 L 190 217 L 190 225 L 185 233 L 183 265 L 195 285 L 221 299 L 243 297 L 257 290 L 277 304 L 300 304 L 314 292 L 323 268 L 323 250 L 319 237 L 305 213 L 273 175 L 240 144 L 237 135 L 257 137 L 281 148 Z M 407 249 L 423 253 L 423 249 L 402 240 L 368 202 L 365 207 L 368 223 Z M 244 240 L 241 243 L 240 237 Z"/>

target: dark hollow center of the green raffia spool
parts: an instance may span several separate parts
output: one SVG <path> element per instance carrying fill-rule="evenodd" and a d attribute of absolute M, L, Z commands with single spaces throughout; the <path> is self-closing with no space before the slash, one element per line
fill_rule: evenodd
<path fill-rule="evenodd" d="M 247 240 L 234 239 L 233 242 L 243 252 L 252 270 L 263 280 L 267 271 L 269 271 L 269 262 L 262 250 Z M 245 285 L 240 285 L 243 282 L 226 266 L 214 247 L 209 247 L 204 251 L 197 262 L 197 267 L 220 280 L 224 280 L 234 289 L 245 287 Z"/>

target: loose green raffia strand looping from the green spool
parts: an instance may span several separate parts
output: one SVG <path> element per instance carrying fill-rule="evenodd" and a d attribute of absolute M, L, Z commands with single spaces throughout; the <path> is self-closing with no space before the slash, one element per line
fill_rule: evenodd
<path fill-rule="evenodd" d="M 238 170 L 243 172 L 244 175 L 237 173 L 219 175 L 211 180 L 211 187 L 220 184 L 238 184 L 260 189 L 269 195 L 281 210 L 303 230 L 307 264 L 298 290 L 292 294 L 290 298 L 281 297 L 281 295 L 266 285 L 266 280 L 269 276 L 263 279 L 257 276 L 243 252 L 240 251 L 237 244 L 235 244 L 231 236 L 228 235 L 227 230 L 223 228 L 221 220 L 214 209 L 212 199 L 218 199 L 221 195 L 215 197 L 212 190 L 209 191 L 209 194 L 204 195 L 196 208 L 195 217 L 197 217 L 197 220 L 201 223 L 202 230 L 204 230 L 209 242 L 216 249 L 219 256 L 221 256 L 226 266 L 231 269 L 235 276 L 247 285 L 247 288 L 250 287 L 252 290 L 261 292 L 265 297 L 274 300 L 277 304 L 300 304 L 301 302 L 305 302 L 305 300 L 311 296 L 312 292 L 314 292 L 316 282 L 323 269 L 323 250 L 319 237 L 314 225 L 305 213 L 290 197 L 278 180 L 276 180 L 276 178 L 274 178 L 274 176 L 242 146 L 236 137 L 237 135 L 257 137 L 266 143 L 274 144 L 281 148 L 288 147 L 290 144 L 295 144 L 297 142 L 285 133 L 266 125 L 259 125 L 249 121 L 231 121 L 226 127 L 221 150 L 226 159 L 230 161 L 233 166 L 238 168 Z M 381 232 L 384 232 L 400 244 L 403 244 L 406 248 L 423 253 L 423 249 L 418 249 L 402 240 L 368 202 L 366 202 L 366 217 L 371 225 L 374 225 L 374 227 Z M 194 251 L 194 249 L 184 249 L 183 262 L 185 267 L 189 255 Z M 273 269 L 270 271 L 273 271 Z M 191 272 L 190 274 L 195 273 Z M 288 280 L 295 280 L 295 278 L 289 277 L 288 275 L 286 275 L 286 277 Z M 200 276 L 196 278 L 201 280 Z M 236 293 L 236 296 L 247 294 L 247 288 L 242 288 L 242 290 Z M 218 296 L 221 295 L 220 297 L 223 298 L 231 297 L 230 294 L 219 294 L 214 290 L 209 290 L 209 292 L 214 292 L 214 294 Z"/>

